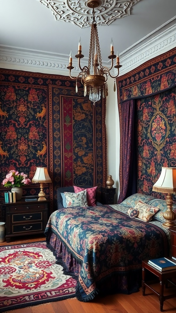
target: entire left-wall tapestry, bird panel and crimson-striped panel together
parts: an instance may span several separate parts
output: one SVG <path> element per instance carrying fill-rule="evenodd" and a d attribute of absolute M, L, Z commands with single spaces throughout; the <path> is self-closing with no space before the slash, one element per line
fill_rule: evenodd
<path fill-rule="evenodd" d="M 106 102 L 93 106 L 67 76 L 0 69 L 0 182 L 11 169 L 33 178 L 47 167 L 44 191 L 55 209 L 56 188 L 106 184 Z M 0 187 L 4 198 L 6 188 Z M 39 185 L 23 188 L 38 195 Z"/>

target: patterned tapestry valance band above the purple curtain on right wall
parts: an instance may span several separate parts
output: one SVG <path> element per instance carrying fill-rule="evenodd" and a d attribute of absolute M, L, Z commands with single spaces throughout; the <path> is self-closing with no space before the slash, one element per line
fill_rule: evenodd
<path fill-rule="evenodd" d="M 118 103 L 157 94 L 176 85 L 176 49 L 116 78 Z"/>

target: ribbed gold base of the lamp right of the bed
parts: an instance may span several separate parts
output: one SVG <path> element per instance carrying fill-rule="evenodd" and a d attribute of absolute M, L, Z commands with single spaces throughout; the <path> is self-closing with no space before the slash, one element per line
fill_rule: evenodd
<path fill-rule="evenodd" d="M 163 213 L 163 218 L 166 219 L 166 222 L 163 223 L 163 226 L 167 228 L 176 226 L 176 224 L 174 223 L 174 220 L 176 219 L 176 214 L 172 210 L 172 203 L 173 203 L 173 195 L 170 193 L 167 193 L 166 195 L 167 210 Z"/>

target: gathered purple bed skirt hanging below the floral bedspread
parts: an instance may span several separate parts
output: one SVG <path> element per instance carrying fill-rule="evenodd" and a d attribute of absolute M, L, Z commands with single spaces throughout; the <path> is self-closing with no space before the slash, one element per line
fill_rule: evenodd
<path fill-rule="evenodd" d="M 106 277 L 99 277 L 95 282 L 96 289 L 85 296 L 79 282 L 79 273 L 82 262 L 74 258 L 68 247 L 61 241 L 58 234 L 52 229 L 45 233 L 47 247 L 53 252 L 57 259 L 57 264 L 63 266 L 64 274 L 70 275 L 77 280 L 76 298 L 83 302 L 93 300 L 96 295 L 106 296 L 116 293 L 132 294 L 139 291 L 142 284 L 142 265 L 140 268 L 130 269 L 128 271 L 106 273 Z"/>

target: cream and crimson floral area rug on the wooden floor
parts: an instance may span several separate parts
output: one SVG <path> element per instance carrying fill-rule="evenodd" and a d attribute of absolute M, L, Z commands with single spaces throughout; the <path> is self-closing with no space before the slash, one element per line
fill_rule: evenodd
<path fill-rule="evenodd" d="M 0 247 L 0 312 L 75 297 L 46 242 Z"/>

